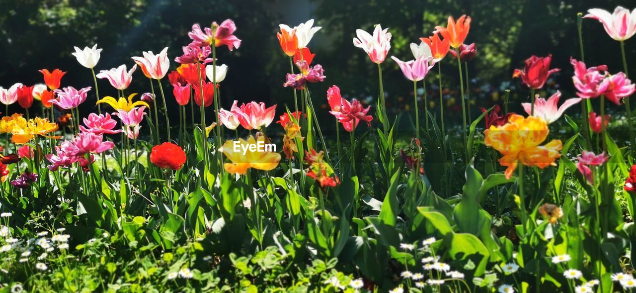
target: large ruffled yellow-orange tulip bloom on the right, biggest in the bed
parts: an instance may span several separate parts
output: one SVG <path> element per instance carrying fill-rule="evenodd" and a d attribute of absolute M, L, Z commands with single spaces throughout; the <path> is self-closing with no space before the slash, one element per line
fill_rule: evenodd
<path fill-rule="evenodd" d="M 492 125 L 484 131 L 484 143 L 504 155 L 499 164 L 508 167 L 506 178 L 509 179 L 519 162 L 539 168 L 555 164 L 563 145 L 559 139 L 541 145 L 548 133 L 548 124 L 542 118 L 511 115 L 507 124 Z"/>

